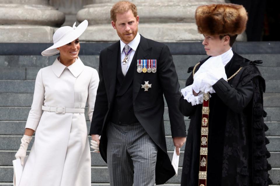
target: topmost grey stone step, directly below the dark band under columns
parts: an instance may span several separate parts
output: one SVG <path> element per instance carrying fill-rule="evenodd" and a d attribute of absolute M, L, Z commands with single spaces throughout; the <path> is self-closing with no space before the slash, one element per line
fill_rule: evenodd
<path fill-rule="evenodd" d="M 280 67 L 280 54 L 245 54 L 241 55 L 249 60 L 262 60 L 263 63 L 259 67 Z M 43 68 L 52 65 L 57 56 L 3 56 L 0 55 L 1 67 L 39 67 Z M 81 60 L 86 66 L 98 68 L 99 67 L 99 55 L 79 55 Z M 207 58 L 207 55 L 173 55 L 174 64 L 177 67 L 194 66 L 201 59 Z"/>

